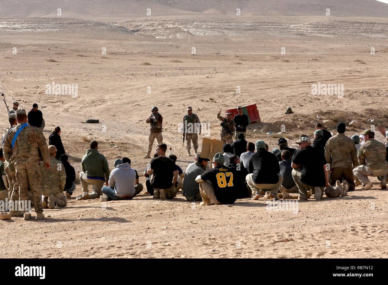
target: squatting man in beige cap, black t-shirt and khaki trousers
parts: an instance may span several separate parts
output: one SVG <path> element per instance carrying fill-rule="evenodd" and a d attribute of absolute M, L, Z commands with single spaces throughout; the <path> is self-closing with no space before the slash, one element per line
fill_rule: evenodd
<path fill-rule="evenodd" d="M 330 186 L 325 156 L 311 146 L 307 136 L 301 137 L 296 143 L 300 149 L 293 155 L 291 174 L 299 189 L 299 200 L 307 200 L 307 190 L 310 189 L 315 200 L 320 200 L 325 186 Z"/>

